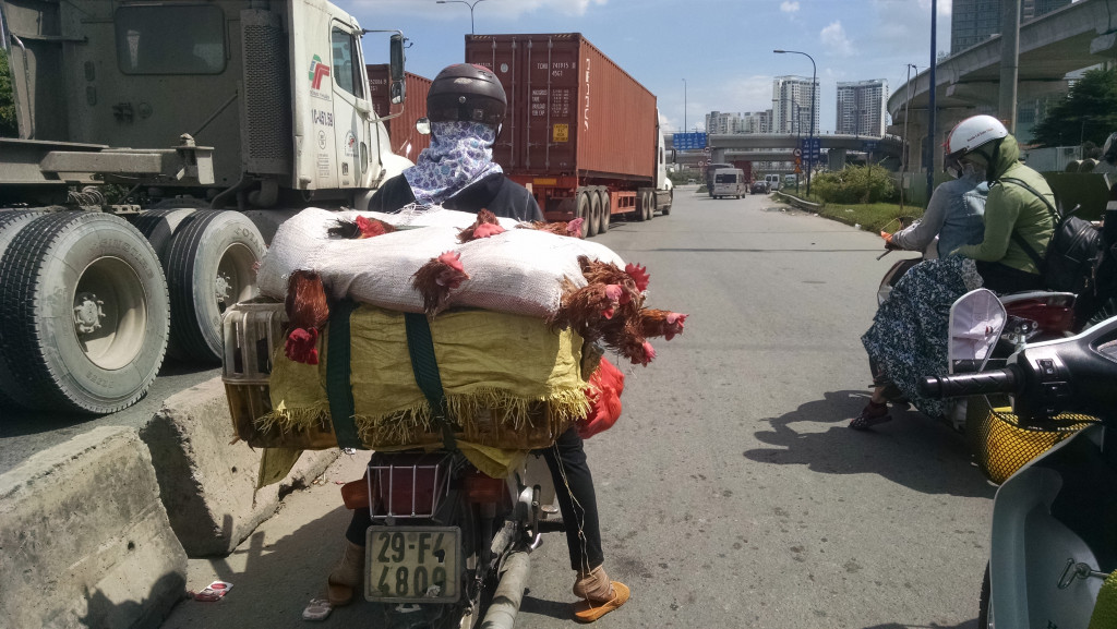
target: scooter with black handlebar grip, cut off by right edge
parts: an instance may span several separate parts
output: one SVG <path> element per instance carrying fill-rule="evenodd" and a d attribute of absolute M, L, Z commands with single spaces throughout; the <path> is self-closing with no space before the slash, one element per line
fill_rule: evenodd
<path fill-rule="evenodd" d="M 1009 394 L 1037 426 L 1061 412 L 1100 418 L 997 489 L 978 616 L 983 628 L 1095 627 L 1091 614 L 1113 603 L 1108 591 L 1099 598 L 1102 581 L 1117 568 L 1117 317 L 1029 344 L 1002 369 L 926 377 L 919 387 L 943 399 Z"/>

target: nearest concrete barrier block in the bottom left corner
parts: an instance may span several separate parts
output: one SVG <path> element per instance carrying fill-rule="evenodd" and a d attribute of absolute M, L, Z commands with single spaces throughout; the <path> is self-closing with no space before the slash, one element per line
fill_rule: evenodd
<path fill-rule="evenodd" d="M 159 627 L 185 573 L 134 429 L 93 429 L 0 475 L 0 627 Z"/>

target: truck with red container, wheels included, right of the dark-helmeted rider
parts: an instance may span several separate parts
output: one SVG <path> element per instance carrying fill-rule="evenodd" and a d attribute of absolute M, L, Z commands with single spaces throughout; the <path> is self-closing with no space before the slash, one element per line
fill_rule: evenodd
<path fill-rule="evenodd" d="M 467 35 L 466 63 L 504 86 L 493 158 L 547 220 L 583 218 L 592 237 L 617 215 L 670 213 L 656 96 L 581 34 Z"/>

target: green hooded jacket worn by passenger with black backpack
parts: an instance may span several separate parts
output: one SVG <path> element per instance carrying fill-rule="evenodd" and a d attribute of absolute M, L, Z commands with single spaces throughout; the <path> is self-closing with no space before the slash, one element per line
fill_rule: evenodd
<path fill-rule="evenodd" d="M 1047 255 L 1048 242 L 1054 234 L 1054 222 L 1047 204 L 1039 197 L 1020 185 L 1003 179 L 1019 179 L 1047 197 L 1054 204 L 1054 194 L 1043 175 L 1020 162 L 1016 139 L 1009 135 L 990 166 L 989 201 L 985 203 L 985 238 L 980 245 L 965 245 L 955 252 L 987 263 L 1038 274 L 1040 270 L 1032 258 L 1012 239 L 1016 231 L 1042 258 Z"/>

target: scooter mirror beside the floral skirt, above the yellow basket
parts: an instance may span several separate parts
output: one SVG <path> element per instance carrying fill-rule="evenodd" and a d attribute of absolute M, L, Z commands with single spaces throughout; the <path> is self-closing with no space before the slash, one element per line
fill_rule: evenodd
<path fill-rule="evenodd" d="M 951 373 L 981 371 L 1001 337 L 1008 313 L 1001 299 L 987 288 L 971 290 L 951 306 L 949 345 L 946 350 Z"/>

